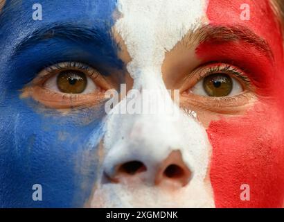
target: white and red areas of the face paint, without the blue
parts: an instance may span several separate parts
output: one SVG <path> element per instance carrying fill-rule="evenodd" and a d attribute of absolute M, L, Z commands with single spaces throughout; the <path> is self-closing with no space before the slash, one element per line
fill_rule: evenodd
<path fill-rule="evenodd" d="M 180 119 L 176 121 L 161 114 L 152 118 L 143 114 L 109 114 L 104 140 L 108 153 L 104 167 L 108 175 L 115 175 L 114 166 L 131 160 L 141 160 L 147 171 L 140 174 L 139 182 L 134 180 L 135 176 L 121 176 L 115 185 L 98 186 L 92 201 L 93 207 L 166 207 L 172 203 L 181 207 L 282 206 L 281 31 L 269 1 L 243 3 L 214 0 L 175 3 L 143 1 L 133 5 L 130 1 L 119 1 L 118 9 L 122 17 L 116 22 L 115 28 L 132 58 L 127 64 L 127 71 L 134 80 L 134 88 L 156 87 L 162 94 L 165 89 L 165 83 L 161 81 L 161 76 L 165 74 L 161 73 L 163 62 L 168 62 L 167 56 L 170 57 L 171 51 L 174 53 L 177 50 L 175 46 L 188 38 L 188 33 L 206 27 L 204 33 L 208 36 L 200 39 L 195 49 L 198 65 L 225 63 L 239 67 L 247 79 L 247 88 L 242 88 L 249 92 L 243 93 L 247 100 L 242 103 L 237 101 L 241 100 L 240 97 L 235 97 L 236 103 L 232 103 L 234 108 L 227 107 L 229 99 L 220 102 L 224 105 L 223 109 L 213 108 L 214 105 L 208 108 L 212 103 L 205 103 L 203 108 L 215 111 L 214 114 L 190 106 L 198 110 L 199 123 L 184 111 L 180 111 Z M 251 6 L 246 12 L 250 13 L 249 20 L 242 17 L 242 9 L 247 6 Z M 157 8 L 163 10 L 154 13 Z M 184 14 L 180 14 L 181 11 Z M 264 17 L 265 24 L 260 22 Z M 274 27 L 274 31 L 271 31 L 271 27 Z M 167 56 L 166 52 L 169 52 Z M 194 63 L 194 60 L 188 62 Z M 172 102 L 165 103 L 170 105 Z M 127 99 L 116 108 L 123 105 L 127 105 Z M 198 103 L 195 105 L 198 106 Z M 119 126 L 123 128 L 117 133 L 114 128 Z M 206 130 L 206 137 L 203 130 Z M 157 176 L 157 166 L 163 165 L 172 151 L 181 152 L 182 160 L 192 173 L 188 184 L 177 189 L 179 191 L 168 191 L 159 184 L 151 183 Z M 206 171 L 210 171 L 209 178 L 206 178 Z M 141 181 L 146 181 L 145 185 Z M 105 202 L 96 202 L 98 198 Z"/>

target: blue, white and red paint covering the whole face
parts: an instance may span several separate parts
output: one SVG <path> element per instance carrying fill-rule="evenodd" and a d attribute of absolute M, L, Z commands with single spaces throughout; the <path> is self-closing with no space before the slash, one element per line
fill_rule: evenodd
<path fill-rule="evenodd" d="M 37 3 L 44 7 L 40 22 L 27 13 L 32 1 L 6 1 L 0 10 L 0 207 L 281 207 L 283 49 L 268 1 Z M 251 6 L 249 21 L 240 20 L 242 3 Z M 167 52 L 207 24 L 251 29 L 269 44 L 272 58 L 249 41 L 198 46 L 202 64 L 245 68 L 258 96 L 245 114 L 218 116 L 205 129 L 199 112 L 184 112 L 172 101 L 161 67 Z M 130 56 L 127 71 L 141 92 L 135 102 L 158 112 L 116 114 L 133 102 L 127 97 L 106 118 L 103 104 L 53 110 L 23 98 L 20 89 L 51 62 L 85 62 L 103 76 L 112 74 L 106 67 L 124 69 L 112 31 Z M 154 90 L 151 100 L 143 89 Z M 158 181 L 161 162 L 172 153 L 191 173 L 185 185 Z M 147 167 L 139 177 L 105 178 L 132 160 Z M 42 202 L 31 198 L 36 183 L 43 187 Z M 247 202 L 240 199 L 243 184 L 250 186 Z"/>

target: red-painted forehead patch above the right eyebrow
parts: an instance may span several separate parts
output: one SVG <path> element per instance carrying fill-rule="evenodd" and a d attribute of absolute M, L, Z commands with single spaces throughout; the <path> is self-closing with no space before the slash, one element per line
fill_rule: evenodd
<path fill-rule="evenodd" d="M 244 13 L 249 15 L 243 18 Z M 231 25 L 241 24 L 267 40 L 272 49 L 281 40 L 280 23 L 272 10 L 272 1 L 269 0 L 210 0 L 206 9 L 206 17 L 210 24 Z"/>

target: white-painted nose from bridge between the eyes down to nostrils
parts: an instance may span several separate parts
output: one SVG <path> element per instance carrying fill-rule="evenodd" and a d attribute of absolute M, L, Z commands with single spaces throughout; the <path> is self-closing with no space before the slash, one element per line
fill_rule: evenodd
<path fill-rule="evenodd" d="M 134 89 L 139 90 L 142 96 L 135 97 L 134 101 L 149 109 L 154 108 L 155 112 L 148 113 L 141 109 L 140 113 L 122 114 L 119 110 L 125 110 L 125 106 L 131 101 L 133 103 L 133 98 L 125 97 L 108 114 L 103 140 L 107 153 L 105 172 L 114 176 L 121 164 L 131 163 L 132 167 L 140 166 L 139 171 L 147 169 L 148 179 L 154 180 L 163 161 L 167 160 L 172 151 L 179 151 L 179 164 L 175 165 L 182 166 L 183 172 L 190 171 L 183 175 L 192 175 L 198 171 L 197 177 L 202 180 L 208 163 L 204 128 L 175 105 L 159 69 L 143 69 L 139 74 L 139 78 L 134 79 Z M 147 90 L 150 90 L 152 96 L 144 96 Z M 163 105 L 162 110 L 157 108 L 159 105 Z M 182 181 L 186 180 L 183 176 Z"/>

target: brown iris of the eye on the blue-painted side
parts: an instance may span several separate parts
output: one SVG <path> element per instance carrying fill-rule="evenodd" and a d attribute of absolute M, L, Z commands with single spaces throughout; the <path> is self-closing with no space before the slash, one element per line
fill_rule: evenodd
<path fill-rule="evenodd" d="M 82 71 L 64 70 L 57 76 L 57 87 L 64 93 L 80 94 L 87 87 L 87 77 Z"/>

